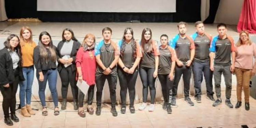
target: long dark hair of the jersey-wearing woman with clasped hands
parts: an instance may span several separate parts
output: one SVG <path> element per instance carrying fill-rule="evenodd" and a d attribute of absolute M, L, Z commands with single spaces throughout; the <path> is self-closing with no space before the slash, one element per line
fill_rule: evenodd
<path fill-rule="evenodd" d="M 124 31 L 124 35 L 123 35 L 123 39 L 122 39 L 122 45 L 120 47 L 120 57 L 123 58 L 123 55 L 124 55 L 124 51 L 125 51 L 125 46 L 126 46 L 126 43 L 125 43 L 125 35 L 127 33 L 127 31 L 130 30 L 131 32 L 131 35 L 132 35 L 132 38 L 131 38 L 131 50 L 132 50 L 132 57 L 136 58 L 136 50 L 137 50 L 137 44 L 135 42 L 135 39 L 133 37 L 133 30 L 132 28 L 125 28 L 125 31 Z"/>

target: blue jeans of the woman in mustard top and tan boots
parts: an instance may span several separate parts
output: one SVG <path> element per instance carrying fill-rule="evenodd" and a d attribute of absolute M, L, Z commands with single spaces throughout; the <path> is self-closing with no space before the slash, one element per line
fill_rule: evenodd
<path fill-rule="evenodd" d="M 31 67 L 23 67 L 23 76 L 25 81 L 19 82 L 19 100 L 21 107 L 24 107 L 26 104 L 30 105 L 31 102 L 31 90 L 32 84 L 34 80 L 34 66 Z M 26 103 L 25 103 L 26 98 Z"/>

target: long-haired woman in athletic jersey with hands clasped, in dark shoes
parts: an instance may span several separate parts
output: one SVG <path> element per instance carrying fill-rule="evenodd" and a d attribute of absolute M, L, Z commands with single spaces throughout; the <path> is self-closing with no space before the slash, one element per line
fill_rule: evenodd
<path fill-rule="evenodd" d="M 121 113 L 126 112 L 126 94 L 129 90 L 130 112 L 134 113 L 135 108 L 135 84 L 138 76 L 138 64 L 142 57 L 141 48 L 133 37 L 133 30 L 126 28 L 123 39 L 118 43 L 120 47 L 120 59 L 118 61 L 117 74 L 120 82 L 120 97 L 122 101 Z"/>

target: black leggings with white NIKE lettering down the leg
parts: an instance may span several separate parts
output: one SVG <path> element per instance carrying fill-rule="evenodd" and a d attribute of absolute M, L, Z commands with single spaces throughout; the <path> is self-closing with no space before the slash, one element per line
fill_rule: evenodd
<path fill-rule="evenodd" d="M 166 74 L 166 75 L 158 74 L 158 79 L 159 79 L 159 81 L 161 83 L 161 87 L 162 87 L 163 100 L 165 102 L 171 101 L 173 80 L 171 81 L 169 79 L 169 74 Z"/>

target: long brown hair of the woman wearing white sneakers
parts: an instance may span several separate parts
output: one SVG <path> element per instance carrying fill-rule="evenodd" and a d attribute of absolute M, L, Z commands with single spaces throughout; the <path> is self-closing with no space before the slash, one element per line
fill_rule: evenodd
<path fill-rule="evenodd" d="M 146 49 L 146 51 L 145 51 L 145 49 L 144 49 L 144 45 L 145 45 L 145 43 L 146 43 L 146 40 L 145 40 L 145 37 L 144 37 L 144 34 L 146 33 L 146 32 L 150 32 L 150 39 L 147 41 L 147 44 L 148 44 L 148 49 Z M 143 30 L 142 30 L 142 34 L 141 34 L 141 48 L 142 48 L 142 52 L 147 52 L 147 53 L 149 53 L 149 52 L 152 52 L 153 51 L 153 46 L 152 46 L 152 31 L 151 31 L 151 29 L 150 28 L 144 28 Z"/>

